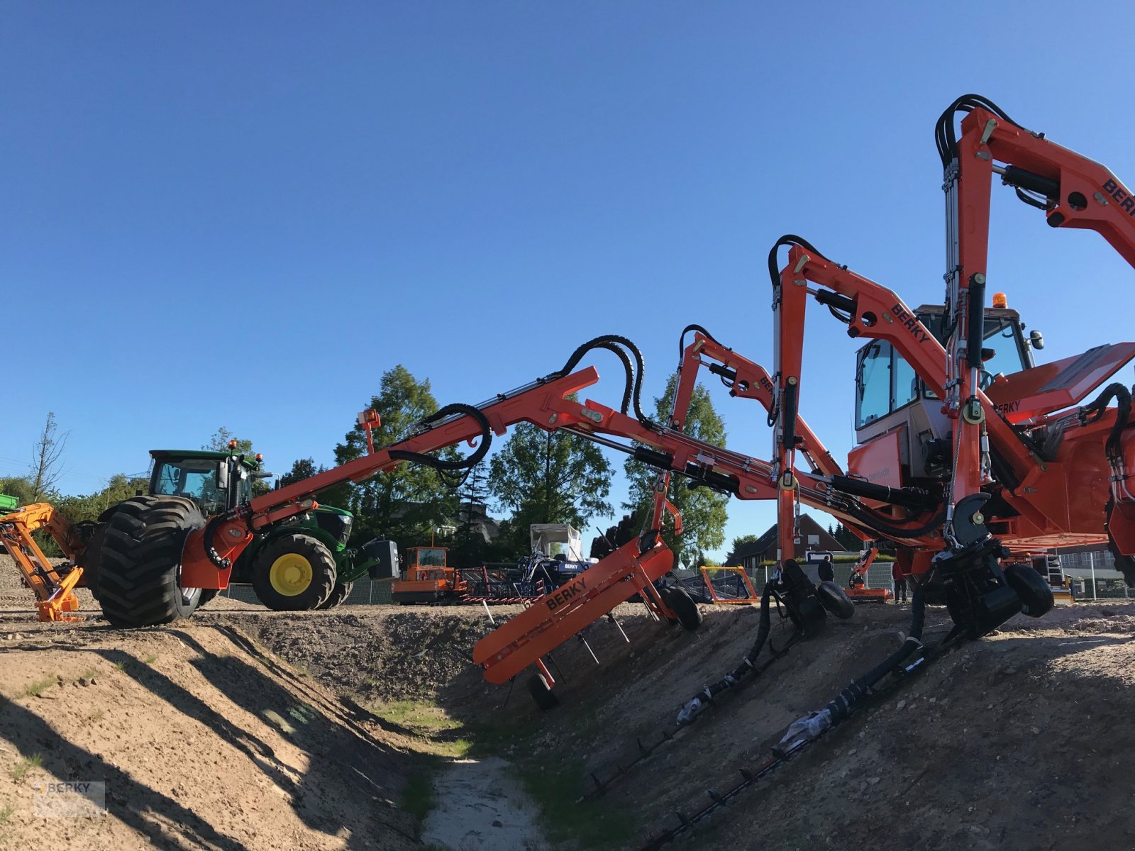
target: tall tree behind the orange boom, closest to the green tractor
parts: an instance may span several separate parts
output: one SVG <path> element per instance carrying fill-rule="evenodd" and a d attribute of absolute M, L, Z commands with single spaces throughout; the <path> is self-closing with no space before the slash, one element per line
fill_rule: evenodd
<path fill-rule="evenodd" d="M 375 429 L 376 446 L 405 438 L 410 428 L 437 411 L 429 379 L 419 381 L 398 364 L 382 373 L 379 390 L 370 398 L 381 416 Z M 355 426 L 335 447 L 336 464 L 345 464 L 367 453 L 367 432 Z M 448 449 L 443 457 L 455 457 Z M 400 548 L 429 544 L 438 528 L 452 525 L 457 500 L 437 473 L 427 465 L 403 463 L 367 481 L 345 483 L 323 491 L 323 500 L 350 508 L 355 514 L 356 540 L 384 537 Z"/>

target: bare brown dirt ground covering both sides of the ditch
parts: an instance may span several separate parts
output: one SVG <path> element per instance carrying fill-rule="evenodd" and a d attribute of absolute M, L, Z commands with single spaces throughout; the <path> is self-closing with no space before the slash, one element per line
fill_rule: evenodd
<path fill-rule="evenodd" d="M 0 815 L 16 809 L 0 835 L 11 848 L 39 835 L 30 790 L 45 773 L 110 781 L 110 816 L 65 824 L 65 846 L 417 844 L 421 827 L 400 809 L 420 769 L 413 731 L 363 709 L 398 700 L 439 707 L 476 758 L 508 760 L 544 811 L 548 845 L 639 848 L 678 824 L 675 810 L 707 803 L 707 789 L 735 785 L 792 721 L 898 647 L 909 618 L 875 605 L 830 622 L 577 806 L 589 772 L 628 762 L 636 736 L 669 726 L 737 664 L 755 609 L 705 606 L 703 627 L 686 633 L 624 605 L 615 614 L 629 641 L 600 621 L 586 632 L 590 650 L 570 641 L 555 652 L 561 705 L 541 714 L 523 683 L 490 685 L 469 664 L 491 629 L 476 607 L 300 615 L 218 598 L 174 627 L 120 632 L 39 626 L 30 598 L 20 608 L 3 595 Z M 947 623 L 931 609 L 927 640 Z M 787 635 L 774 626 L 775 644 Z M 1133 635 L 1135 605 L 1125 603 L 1015 618 L 938 659 L 673 846 L 1135 848 L 1135 792 L 1124 778 L 1135 753 L 1124 723 L 1135 710 Z M 72 684 L 89 668 L 98 684 Z M 49 676 L 41 694 L 18 697 Z M 42 766 L 14 781 L 33 753 Z"/>

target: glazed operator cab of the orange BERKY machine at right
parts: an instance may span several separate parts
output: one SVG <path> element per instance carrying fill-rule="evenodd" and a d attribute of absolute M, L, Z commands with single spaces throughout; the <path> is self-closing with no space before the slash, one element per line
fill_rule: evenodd
<path fill-rule="evenodd" d="M 922 305 L 918 321 L 945 342 L 944 309 Z M 1036 331 L 1026 338 L 1020 314 L 1007 306 L 985 310 L 982 388 L 1033 368 L 1033 348 L 1042 348 Z M 856 355 L 855 428 L 859 444 L 848 456 L 851 473 L 877 485 L 905 487 L 918 479 L 939 479 L 949 470 L 950 420 L 938 393 L 885 340 L 871 340 Z"/>

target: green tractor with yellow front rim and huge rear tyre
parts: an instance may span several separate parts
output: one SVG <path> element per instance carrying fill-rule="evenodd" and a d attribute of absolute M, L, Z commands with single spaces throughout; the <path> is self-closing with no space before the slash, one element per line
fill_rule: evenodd
<path fill-rule="evenodd" d="M 165 620 L 166 609 L 174 616 L 186 616 L 217 595 L 216 590 L 183 589 L 175 583 L 173 593 L 179 599 L 171 600 L 168 582 L 160 573 L 152 573 L 151 582 L 146 576 L 125 575 L 115 570 L 116 562 L 124 562 L 131 548 L 136 547 L 128 529 L 132 515 L 160 505 L 178 514 L 170 521 L 201 525 L 192 521 L 224 514 L 247 503 L 253 481 L 271 475 L 261 471 L 259 460 L 249 461 L 236 452 L 153 449 L 150 456 L 153 471 L 149 495 L 133 497 L 104 512 L 82 559 L 89 572 L 87 584 L 111 622 L 136 622 L 140 608 L 145 609 L 150 604 L 149 598 L 155 610 L 162 609 Z M 234 563 L 232 581 L 250 582 L 261 603 L 280 612 L 338 606 L 351 593 L 354 581 L 368 573 L 375 562 L 369 544 L 359 549 L 347 548 L 353 520 L 348 511 L 321 505 L 268 526 L 257 533 Z"/>

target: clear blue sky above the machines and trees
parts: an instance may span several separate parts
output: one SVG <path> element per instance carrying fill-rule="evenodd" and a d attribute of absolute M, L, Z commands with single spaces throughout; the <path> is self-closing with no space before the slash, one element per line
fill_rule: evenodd
<path fill-rule="evenodd" d="M 784 233 L 940 302 L 932 130 L 965 92 L 1135 183 L 1129 7 L 873 6 L 5 3 L 0 475 L 48 411 L 89 492 L 219 426 L 327 463 L 396 363 L 476 402 L 617 332 L 654 396 L 699 322 L 771 365 Z M 1004 189 L 992 239 L 1044 357 L 1133 337 L 1098 235 Z M 854 351 L 813 309 L 801 410 L 841 458 Z M 726 531 L 771 522 L 734 503 Z"/>

